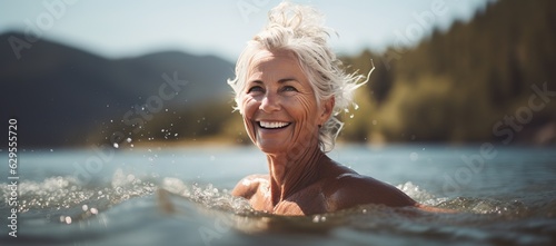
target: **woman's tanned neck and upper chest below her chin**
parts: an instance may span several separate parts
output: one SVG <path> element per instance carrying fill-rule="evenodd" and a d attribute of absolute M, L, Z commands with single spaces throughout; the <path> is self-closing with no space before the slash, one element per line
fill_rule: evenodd
<path fill-rule="evenodd" d="M 272 206 L 319 179 L 319 165 L 328 157 L 318 146 L 301 151 L 267 155 Z"/>

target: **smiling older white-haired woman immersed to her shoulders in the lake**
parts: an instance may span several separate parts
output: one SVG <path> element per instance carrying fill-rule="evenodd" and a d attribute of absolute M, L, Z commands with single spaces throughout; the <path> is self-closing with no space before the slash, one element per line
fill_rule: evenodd
<path fill-rule="evenodd" d="M 418 206 L 395 187 L 331 160 L 341 122 L 365 77 L 346 75 L 327 45 L 322 18 L 309 7 L 281 3 L 239 57 L 229 81 L 268 175 L 241 179 L 232 195 L 256 210 L 311 215 L 363 204 Z"/>

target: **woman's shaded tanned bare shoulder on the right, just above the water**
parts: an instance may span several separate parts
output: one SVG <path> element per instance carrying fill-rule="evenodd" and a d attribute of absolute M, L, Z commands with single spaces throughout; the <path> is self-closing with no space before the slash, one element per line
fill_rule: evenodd
<path fill-rule="evenodd" d="M 391 207 L 416 206 L 417 203 L 396 187 L 357 173 L 338 175 L 324 187 L 331 210 L 364 204 Z"/>

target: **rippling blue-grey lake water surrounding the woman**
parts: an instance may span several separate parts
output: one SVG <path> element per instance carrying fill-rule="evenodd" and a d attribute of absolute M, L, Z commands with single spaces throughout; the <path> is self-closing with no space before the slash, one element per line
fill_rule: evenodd
<path fill-rule="evenodd" d="M 113 150 L 20 150 L 17 238 L 0 151 L 1 245 L 556 245 L 554 146 L 339 146 L 332 159 L 458 213 L 366 205 L 308 217 L 229 195 L 267 173 L 257 149 Z"/>

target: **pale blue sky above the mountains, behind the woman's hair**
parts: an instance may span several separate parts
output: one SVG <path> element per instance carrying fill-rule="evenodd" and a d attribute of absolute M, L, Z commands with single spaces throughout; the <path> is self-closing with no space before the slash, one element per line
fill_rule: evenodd
<path fill-rule="evenodd" d="M 336 30 L 341 55 L 419 41 L 434 28 L 468 20 L 488 0 L 291 0 Z M 178 50 L 235 61 L 279 0 L 0 0 L 0 33 L 20 30 L 106 58 Z M 24 50 L 22 51 L 24 52 Z"/>

